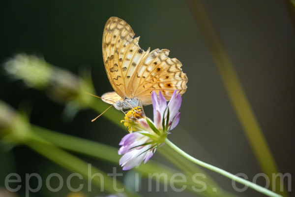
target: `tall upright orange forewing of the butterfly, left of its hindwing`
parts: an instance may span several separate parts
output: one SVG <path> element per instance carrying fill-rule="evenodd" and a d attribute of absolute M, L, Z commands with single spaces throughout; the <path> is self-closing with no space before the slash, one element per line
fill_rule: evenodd
<path fill-rule="evenodd" d="M 132 97 L 128 84 L 137 65 L 148 54 L 139 47 L 139 38 L 132 39 L 133 36 L 131 27 L 117 17 L 108 20 L 103 33 L 102 51 L 108 78 L 124 99 Z"/>

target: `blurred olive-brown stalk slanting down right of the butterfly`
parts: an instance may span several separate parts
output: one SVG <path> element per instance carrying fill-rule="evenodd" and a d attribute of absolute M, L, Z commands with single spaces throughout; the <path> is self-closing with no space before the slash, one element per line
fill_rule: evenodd
<path fill-rule="evenodd" d="M 207 42 L 208 48 L 217 66 L 227 93 L 232 101 L 239 121 L 244 128 L 245 135 L 255 153 L 256 159 L 263 172 L 272 180 L 272 173 L 279 173 L 277 165 L 271 154 L 260 125 L 254 115 L 251 105 L 244 93 L 242 85 L 238 79 L 235 68 L 227 54 L 207 12 L 206 5 L 202 0 L 186 0 L 197 21 L 201 32 Z M 275 179 L 274 191 L 287 197 L 286 188 L 280 192 L 280 180 Z M 273 183 L 270 183 L 270 187 Z"/>

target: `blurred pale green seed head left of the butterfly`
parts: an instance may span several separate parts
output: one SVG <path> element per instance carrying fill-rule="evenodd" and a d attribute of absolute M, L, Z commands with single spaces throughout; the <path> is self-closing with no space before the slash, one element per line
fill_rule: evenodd
<path fill-rule="evenodd" d="M 87 108 L 94 93 L 89 72 L 82 77 L 47 63 L 43 58 L 18 54 L 4 63 L 4 69 L 14 79 L 21 79 L 29 87 L 45 91 L 48 97 L 68 108 Z"/>

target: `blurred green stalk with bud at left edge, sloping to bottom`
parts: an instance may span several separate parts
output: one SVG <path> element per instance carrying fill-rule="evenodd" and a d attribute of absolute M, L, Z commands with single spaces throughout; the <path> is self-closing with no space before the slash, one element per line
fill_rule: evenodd
<path fill-rule="evenodd" d="M 32 131 L 33 128 L 34 126 L 30 125 L 29 119 L 25 113 L 16 112 L 9 105 L 0 100 L 0 142 L 3 145 L 27 145 L 47 159 L 61 165 L 65 169 L 81 174 L 86 179 L 89 178 L 89 175 L 92 176 L 95 173 L 99 173 L 103 178 L 93 176 L 91 183 L 93 182 L 101 189 L 103 187 L 103 189 L 110 194 L 118 193 L 116 188 L 113 187 L 114 181 L 116 181 L 116 185 L 119 189 L 125 188 L 125 191 L 122 192 L 125 196 L 141 197 L 129 188 L 124 187 L 118 180 L 113 180 L 112 177 L 109 177 L 106 173 L 93 166 L 90 168 L 90 173 L 89 164 L 47 141 L 36 132 Z"/>

